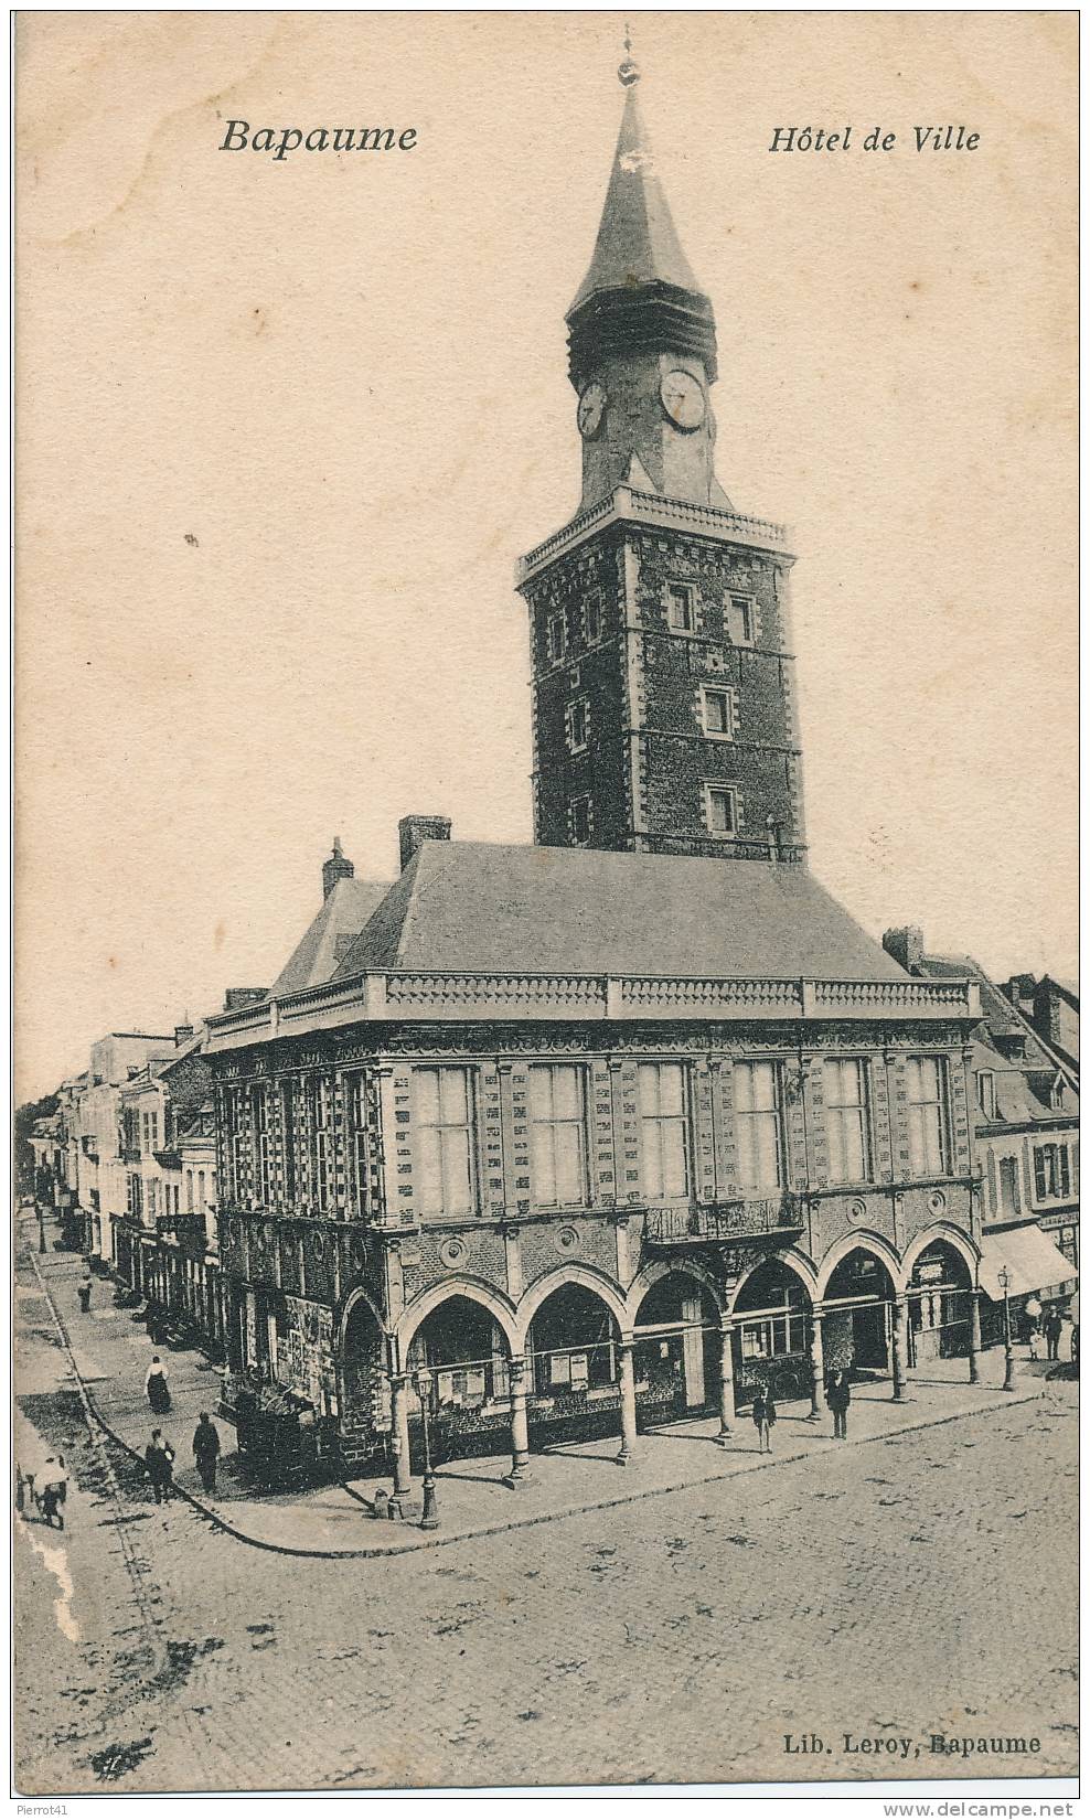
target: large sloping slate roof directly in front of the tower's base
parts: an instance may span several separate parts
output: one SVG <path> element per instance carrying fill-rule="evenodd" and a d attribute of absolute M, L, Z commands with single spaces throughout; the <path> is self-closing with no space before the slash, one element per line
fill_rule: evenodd
<path fill-rule="evenodd" d="M 368 968 L 904 981 L 802 866 L 424 841 L 344 956 Z"/>

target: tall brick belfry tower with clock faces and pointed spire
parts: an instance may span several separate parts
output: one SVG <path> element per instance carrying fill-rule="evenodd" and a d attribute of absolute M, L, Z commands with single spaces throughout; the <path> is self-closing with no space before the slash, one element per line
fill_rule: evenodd
<path fill-rule="evenodd" d="M 628 46 L 626 46 L 628 49 Z M 519 564 L 540 846 L 804 857 L 781 526 L 713 470 L 715 318 L 655 173 L 630 56 L 590 271 L 568 311 L 577 515 Z"/>

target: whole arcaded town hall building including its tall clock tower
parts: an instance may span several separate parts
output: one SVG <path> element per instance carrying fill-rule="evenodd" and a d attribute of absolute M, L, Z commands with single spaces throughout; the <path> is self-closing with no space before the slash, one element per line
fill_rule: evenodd
<path fill-rule="evenodd" d="M 975 1374 L 970 979 L 912 977 L 806 864 L 781 526 L 713 471 L 715 322 L 626 62 L 568 315 L 575 519 L 519 564 L 533 846 L 400 823 L 209 1019 L 226 1409 L 331 1471 L 715 1418 L 830 1365 Z M 338 908 L 340 906 L 340 908 Z M 340 915 L 340 923 L 337 917 Z"/>

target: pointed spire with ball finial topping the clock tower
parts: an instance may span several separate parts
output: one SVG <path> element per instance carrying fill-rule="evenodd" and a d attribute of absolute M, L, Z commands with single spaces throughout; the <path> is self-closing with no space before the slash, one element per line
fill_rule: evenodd
<path fill-rule="evenodd" d="M 624 115 L 613 171 L 602 209 L 602 222 L 590 271 L 568 318 L 601 291 L 671 284 L 682 291 L 701 293 L 693 269 L 681 249 L 677 228 L 666 202 L 666 193 L 655 173 L 655 158 L 639 104 L 639 64 L 631 60 L 631 38 L 624 38 L 626 58 L 617 71 L 624 87 Z"/>

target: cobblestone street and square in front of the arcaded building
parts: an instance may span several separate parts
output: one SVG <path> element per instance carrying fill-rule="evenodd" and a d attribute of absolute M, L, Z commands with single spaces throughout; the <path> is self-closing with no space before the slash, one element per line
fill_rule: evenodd
<path fill-rule="evenodd" d="M 149 1503 L 20 1278 L 18 1420 L 76 1474 L 64 1536 L 16 1525 L 22 1793 L 1075 1773 L 1070 1381 L 531 1531 L 300 1562 Z M 932 1733 L 1039 1753 L 937 1758 Z"/>

